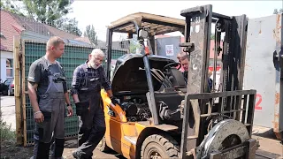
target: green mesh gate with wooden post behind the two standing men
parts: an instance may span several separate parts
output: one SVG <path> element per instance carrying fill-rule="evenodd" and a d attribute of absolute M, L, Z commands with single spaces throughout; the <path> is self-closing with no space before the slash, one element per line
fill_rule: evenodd
<path fill-rule="evenodd" d="M 15 64 L 15 100 L 16 100 L 16 132 L 17 143 L 24 147 L 34 144 L 34 113 L 27 95 L 27 75 L 29 66 L 45 55 L 46 42 L 20 40 L 14 37 Z M 68 92 L 70 92 L 73 71 L 88 59 L 88 54 L 95 49 L 73 44 L 65 44 L 64 55 L 57 59 L 64 67 Z M 100 48 L 105 52 L 105 48 Z M 125 49 L 112 49 L 112 59 L 127 53 Z M 71 102 L 73 98 L 70 95 Z M 67 111 L 66 111 L 67 112 Z M 73 117 L 65 117 L 65 138 L 72 138 L 78 133 L 78 117 L 73 104 Z"/>

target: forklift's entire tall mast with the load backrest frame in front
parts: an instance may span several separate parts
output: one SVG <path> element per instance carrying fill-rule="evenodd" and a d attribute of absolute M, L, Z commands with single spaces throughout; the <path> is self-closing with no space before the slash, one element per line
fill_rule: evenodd
<path fill-rule="evenodd" d="M 256 90 L 242 90 L 248 19 L 246 15 L 230 17 L 213 12 L 212 5 L 188 8 L 180 11 L 180 15 L 186 18 L 185 42 L 180 43 L 180 47 L 190 57 L 181 137 L 181 156 L 184 158 L 189 153 L 195 153 L 196 156 L 199 155 L 198 157 L 200 155 L 202 157 L 203 155 L 210 155 L 207 156 L 210 158 L 223 157 L 225 156 L 225 154 L 221 154 L 223 152 L 218 154 L 210 152 L 207 145 L 212 143 L 206 141 L 214 139 L 213 134 L 218 133 L 220 136 L 225 136 L 227 132 L 220 129 L 216 130 L 215 127 L 217 126 L 209 130 L 210 125 L 208 127 L 205 123 L 208 118 L 218 118 L 218 123 L 221 123 L 219 121 L 223 121 L 223 123 L 240 121 L 248 129 L 249 137 L 252 132 Z M 208 68 L 211 24 L 213 23 L 215 24 L 213 86 L 210 93 L 207 93 L 205 88 L 208 86 L 208 78 L 210 78 L 208 77 Z M 221 35 L 224 35 L 222 46 L 220 45 Z M 216 90 L 216 67 L 218 57 L 221 55 L 220 85 L 219 89 Z M 247 111 L 248 113 L 246 113 Z M 187 122 L 192 120 L 195 121 L 195 124 L 187 125 Z M 215 132 L 209 133 L 205 138 L 210 131 Z M 221 140 L 216 140 L 213 144 L 217 145 L 221 142 Z M 249 149 L 251 148 L 250 145 L 255 145 L 255 140 L 249 140 L 243 145 L 241 145 L 242 149 L 245 147 Z M 255 149 L 250 149 L 243 152 L 250 157 L 254 155 L 254 151 Z M 242 155 L 241 153 L 226 152 L 226 156 L 233 156 L 234 158 Z"/>

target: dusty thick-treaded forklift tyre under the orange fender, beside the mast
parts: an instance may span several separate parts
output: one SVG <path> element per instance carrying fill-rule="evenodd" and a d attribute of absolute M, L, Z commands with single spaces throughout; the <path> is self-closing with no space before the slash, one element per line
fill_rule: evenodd
<path fill-rule="evenodd" d="M 180 147 L 169 135 L 153 134 L 142 143 L 141 158 L 178 158 Z"/>

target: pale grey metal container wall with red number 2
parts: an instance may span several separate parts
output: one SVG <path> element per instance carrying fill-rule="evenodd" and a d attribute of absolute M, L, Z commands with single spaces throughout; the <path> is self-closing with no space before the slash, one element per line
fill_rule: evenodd
<path fill-rule="evenodd" d="M 282 22 L 282 13 L 249 19 L 244 73 L 244 89 L 257 92 L 254 125 L 273 128 L 275 133 L 283 131 L 283 105 L 279 102 Z"/>

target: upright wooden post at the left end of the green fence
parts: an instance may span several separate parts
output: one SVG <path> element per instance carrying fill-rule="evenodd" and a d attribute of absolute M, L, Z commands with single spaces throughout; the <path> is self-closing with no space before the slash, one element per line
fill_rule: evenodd
<path fill-rule="evenodd" d="M 21 105 L 20 105 L 20 84 L 19 84 L 19 71 L 20 71 L 20 64 L 19 64 L 19 49 L 20 49 L 20 37 L 14 36 L 13 37 L 13 65 L 14 65 L 14 96 L 15 96 L 15 112 L 16 112 L 16 138 L 17 138 L 17 145 L 23 144 L 22 138 L 22 113 L 21 113 Z"/>

